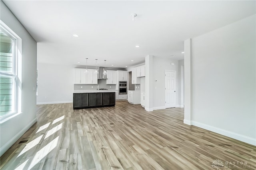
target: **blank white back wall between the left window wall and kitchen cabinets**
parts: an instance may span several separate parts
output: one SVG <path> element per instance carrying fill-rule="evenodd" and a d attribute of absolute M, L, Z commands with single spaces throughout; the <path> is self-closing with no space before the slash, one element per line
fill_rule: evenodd
<path fill-rule="evenodd" d="M 38 63 L 37 104 L 73 101 L 74 66 Z"/>

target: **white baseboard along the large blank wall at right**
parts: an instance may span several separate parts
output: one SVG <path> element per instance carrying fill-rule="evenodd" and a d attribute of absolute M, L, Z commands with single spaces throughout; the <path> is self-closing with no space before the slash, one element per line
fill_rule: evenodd
<path fill-rule="evenodd" d="M 184 122 L 185 122 L 185 120 L 184 120 Z M 240 140 L 242 142 L 246 142 L 248 144 L 252 144 L 252 145 L 256 146 L 256 139 L 254 139 L 254 138 L 250 138 L 248 136 L 244 136 L 244 135 L 241 135 L 241 134 L 230 132 L 228 130 L 216 128 L 216 127 L 210 126 L 208 124 L 203 124 L 203 123 L 196 122 L 196 121 L 191 121 L 191 122 L 192 122 L 192 125 L 197 126 L 199 128 L 210 130 L 212 132 L 215 132 L 215 133 L 218 133 L 218 134 L 222 134 L 224 136 L 228 136 L 230 138 L 233 138 L 233 139 L 236 139 L 236 140 Z"/>

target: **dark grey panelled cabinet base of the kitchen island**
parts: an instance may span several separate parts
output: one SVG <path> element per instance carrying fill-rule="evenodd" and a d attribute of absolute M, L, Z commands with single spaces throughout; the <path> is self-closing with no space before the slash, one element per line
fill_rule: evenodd
<path fill-rule="evenodd" d="M 73 109 L 115 106 L 115 92 L 73 93 Z"/>

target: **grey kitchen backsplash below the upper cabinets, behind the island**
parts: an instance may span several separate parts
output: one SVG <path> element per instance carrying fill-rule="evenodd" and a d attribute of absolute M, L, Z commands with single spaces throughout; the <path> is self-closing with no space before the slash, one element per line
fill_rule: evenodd
<path fill-rule="evenodd" d="M 108 90 L 116 90 L 116 84 L 106 84 L 106 80 L 98 80 L 98 85 L 100 89 L 105 88 Z M 97 84 L 74 84 L 74 90 L 97 90 L 98 85 Z"/>

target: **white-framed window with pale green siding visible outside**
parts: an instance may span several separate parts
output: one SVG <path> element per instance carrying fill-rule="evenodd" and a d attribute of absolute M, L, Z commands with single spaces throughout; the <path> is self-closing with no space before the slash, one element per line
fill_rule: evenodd
<path fill-rule="evenodd" d="M 0 121 L 18 113 L 17 36 L 0 24 Z"/>

